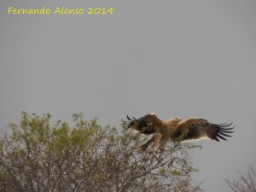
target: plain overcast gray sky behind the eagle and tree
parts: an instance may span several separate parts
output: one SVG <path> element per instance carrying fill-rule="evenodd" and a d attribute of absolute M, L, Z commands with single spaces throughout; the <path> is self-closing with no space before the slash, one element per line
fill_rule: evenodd
<path fill-rule="evenodd" d="M 8 15 L 8 8 L 113 7 L 112 15 Z M 234 122 L 192 154 L 207 192 L 256 165 L 256 1 L 0 3 L 0 126 L 20 112 L 119 125 L 128 113 Z"/>

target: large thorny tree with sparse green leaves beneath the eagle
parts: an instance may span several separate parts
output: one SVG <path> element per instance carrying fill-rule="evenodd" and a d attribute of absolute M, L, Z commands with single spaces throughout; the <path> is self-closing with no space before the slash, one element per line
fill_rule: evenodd
<path fill-rule="evenodd" d="M 23 112 L 0 143 L 0 191 L 200 191 L 190 177 L 191 143 L 166 145 L 152 156 L 135 131 L 73 115 L 73 125 Z"/>

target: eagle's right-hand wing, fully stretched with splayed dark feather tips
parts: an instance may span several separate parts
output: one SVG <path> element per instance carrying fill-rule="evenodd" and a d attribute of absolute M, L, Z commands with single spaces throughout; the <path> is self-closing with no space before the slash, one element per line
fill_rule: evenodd
<path fill-rule="evenodd" d="M 177 125 L 176 131 L 174 131 L 173 137 L 180 137 L 183 134 L 181 140 L 209 138 L 219 142 L 219 139 L 227 140 L 225 137 L 231 137 L 230 131 L 234 127 L 230 127 L 230 124 L 212 124 L 205 119 L 187 119 L 180 122 Z"/>

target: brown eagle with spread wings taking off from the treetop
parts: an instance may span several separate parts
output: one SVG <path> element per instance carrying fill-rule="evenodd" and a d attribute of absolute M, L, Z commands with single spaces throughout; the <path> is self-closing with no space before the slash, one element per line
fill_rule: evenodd
<path fill-rule="evenodd" d="M 219 140 L 231 137 L 230 133 L 235 127 L 231 127 L 232 123 L 212 124 L 206 119 L 190 118 L 182 120 L 180 117 L 174 117 L 169 120 L 159 119 L 155 113 L 149 113 L 139 119 L 127 115 L 129 120 L 128 129 L 134 129 L 145 135 L 152 135 L 147 143 L 141 146 L 143 151 L 153 143 L 153 154 L 158 148 L 162 147 L 168 139 L 172 141 L 210 139 L 219 142 Z"/>

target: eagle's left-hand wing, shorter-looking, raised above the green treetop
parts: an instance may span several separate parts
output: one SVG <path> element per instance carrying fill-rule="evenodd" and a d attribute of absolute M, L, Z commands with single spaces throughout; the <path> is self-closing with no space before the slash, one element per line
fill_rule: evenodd
<path fill-rule="evenodd" d="M 128 128 L 132 128 L 147 135 L 155 133 L 164 124 L 154 113 L 147 114 L 140 119 L 131 119 L 127 115 L 127 119 L 130 120 Z"/>

